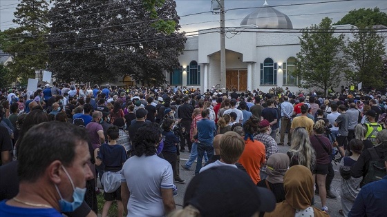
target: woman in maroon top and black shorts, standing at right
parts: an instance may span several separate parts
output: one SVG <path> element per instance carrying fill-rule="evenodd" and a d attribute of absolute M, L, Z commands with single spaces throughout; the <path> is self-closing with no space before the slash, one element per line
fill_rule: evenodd
<path fill-rule="evenodd" d="M 329 138 L 323 136 L 325 134 L 325 121 L 320 120 L 314 124 L 314 135 L 310 136 L 310 143 L 314 148 L 316 164 L 313 170 L 313 180 L 316 180 L 319 185 L 319 195 L 323 211 L 328 211 L 326 206 L 327 189 L 325 188 L 325 179 L 329 172 L 330 154 L 332 154 L 332 145 Z"/>

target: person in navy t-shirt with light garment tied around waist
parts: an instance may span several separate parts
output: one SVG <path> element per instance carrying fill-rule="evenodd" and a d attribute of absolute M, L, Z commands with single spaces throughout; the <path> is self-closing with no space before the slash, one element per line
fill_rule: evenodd
<path fill-rule="evenodd" d="M 120 132 L 117 126 L 109 127 L 106 134 L 108 135 L 108 143 L 104 143 L 100 148 L 94 150 L 95 165 L 105 165 L 104 172 L 118 172 L 122 169 L 126 161 L 126 152 L 122 145 L 117 144 L 117 139 L 120 137 Z M 124 206 L 121 199 L 121 187 L 118 187 L 115 192 L 104 192 L 104 207 L 102 208 L 102 217 L 108 215 L 113 200 L 117 201 L 118 216 L 124 214 Z"/>

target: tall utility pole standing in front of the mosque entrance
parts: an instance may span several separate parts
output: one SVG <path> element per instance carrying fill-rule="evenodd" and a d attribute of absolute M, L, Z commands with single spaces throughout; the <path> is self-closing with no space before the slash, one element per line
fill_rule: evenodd
<path fill-rule="evenodd" d="M 225 0 L 220 0 L 219 4 L 220 4 L 220 88 L 223 88 L 223 87 L 226 87 Z"/>

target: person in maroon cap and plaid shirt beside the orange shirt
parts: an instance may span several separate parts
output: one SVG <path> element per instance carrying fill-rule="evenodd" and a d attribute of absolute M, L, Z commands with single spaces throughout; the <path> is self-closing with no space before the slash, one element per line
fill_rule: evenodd
<path fill-rule="evenodd" d="M 260 141 L 261 143 L 263 143 L 263 145 L 265 145 L 266 161 L 267 161 L 267 159 L 269 159 L 269 157 L 272 156 L 272 154 L 279 152 L 279 148 L 274 138 L 270 136 L 270 134 L 272 133 L 272 126 L 270 125 L 269 121 L 267 121 L 266 119 L 263 119 L 261 122 L 259 122 L 258 131 L 259 131 L 259 134 L 254 136 L 254 139 L 256 139 L 257 141 Z M 261 176 L 261 179 L 265 179 L 267 177 L 266 165 L 261 167 L 260 176 Z"/>

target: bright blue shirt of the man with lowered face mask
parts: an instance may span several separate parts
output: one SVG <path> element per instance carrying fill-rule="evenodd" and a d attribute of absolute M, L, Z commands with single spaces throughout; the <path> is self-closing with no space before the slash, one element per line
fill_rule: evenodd
<path fill-rule="evenodd" d="M 13 217 L 13 216 L 47 216 L 47 217 L 62 217 L 54 208 L 24 208 L 24 207 L 13 207 L 6 204 L 6 200 L 0 202 L 0 216 L 1 217 Z"/>

